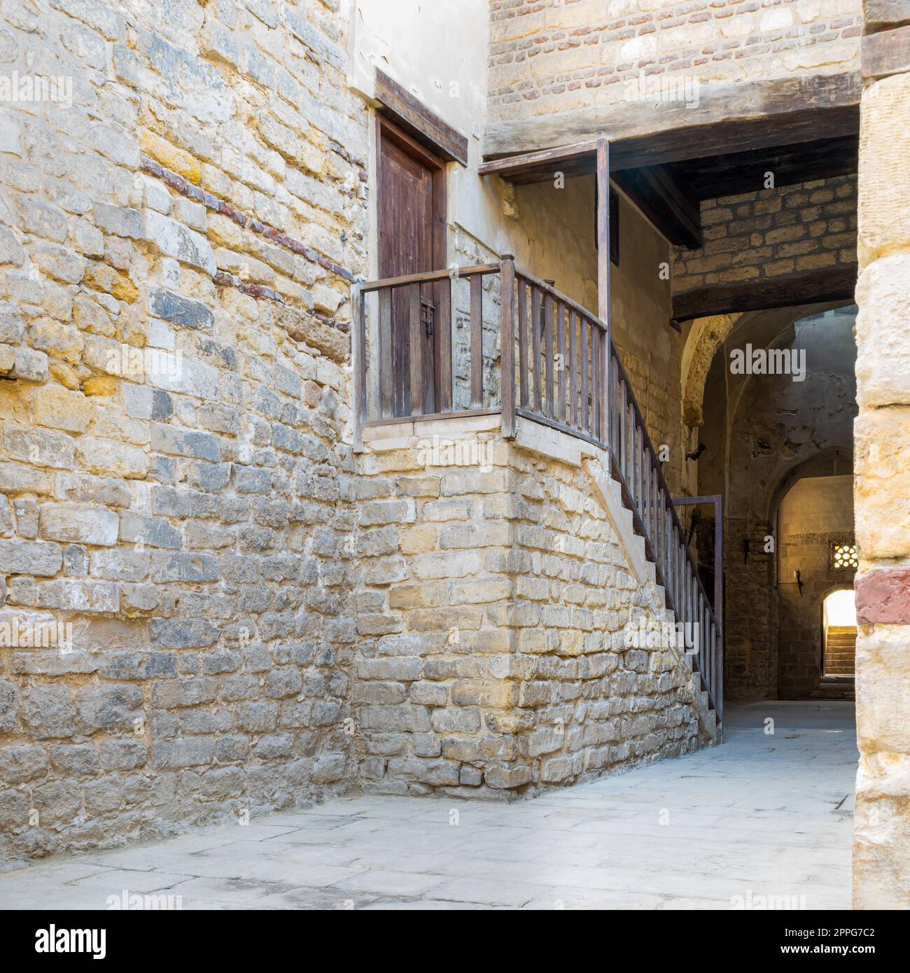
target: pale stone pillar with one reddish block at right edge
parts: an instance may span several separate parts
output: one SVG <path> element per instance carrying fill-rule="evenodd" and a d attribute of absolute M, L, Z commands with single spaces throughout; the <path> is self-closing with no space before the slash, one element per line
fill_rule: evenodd
<path fill-rule="evenodd" d="M 910 908 L 910 4 L 865 0 L 854 905 Z"/>

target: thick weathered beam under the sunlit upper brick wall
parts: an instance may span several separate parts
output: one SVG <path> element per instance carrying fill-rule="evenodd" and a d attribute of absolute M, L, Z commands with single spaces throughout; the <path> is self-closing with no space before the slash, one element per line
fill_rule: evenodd
<path fill-rule="evenodd" d="M 858 131 L 862 81 L 856 74 L 811 75 L 701 86 L 698 104 L 619 101 L 488 126 L 488 159 L 610 142 L 611 168 L 635 168 Z M 564 151 L 564 150 L 560 150 Z M 553 157 L 545 160 L 547 164 Z M 540 162 L 540 160 L 537 160 Z M 500 174 L 502 174 L 500 172 Z"/>

